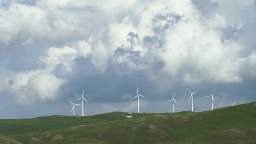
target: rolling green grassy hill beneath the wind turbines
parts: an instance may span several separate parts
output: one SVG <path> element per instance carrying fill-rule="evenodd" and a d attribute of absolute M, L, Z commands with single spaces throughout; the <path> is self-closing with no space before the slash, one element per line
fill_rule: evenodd
<path fill-rule="evenodd" d="M 256 144 L 256 102 L 200 113 L 113 112 L 4 119 L 0 120 L 1 143 Z"/>

